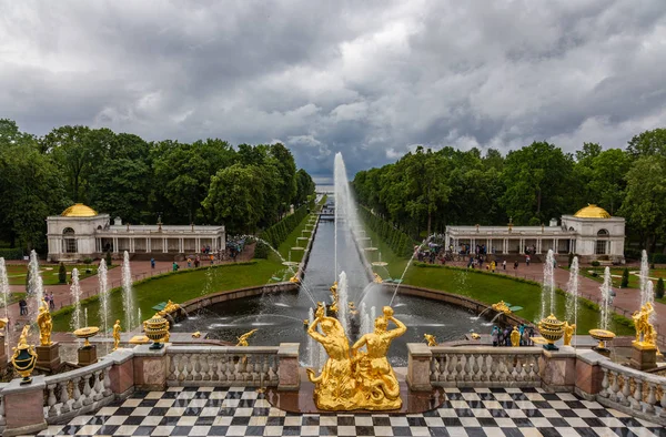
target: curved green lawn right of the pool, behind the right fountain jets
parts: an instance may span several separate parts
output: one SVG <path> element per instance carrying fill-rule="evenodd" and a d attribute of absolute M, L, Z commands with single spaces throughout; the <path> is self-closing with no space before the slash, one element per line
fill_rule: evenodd
<path fill-rule="evenodd" d="M 413 265 L 407 271 L 404 282 L 420 287 L 462 294 L 486 304 L 505 301 L 514 306 L 522 306 L 523 309 L 517 312 L 516 315 L 528 321 L 537 321 L 541 313 L 541 286 L 518 282 L 503 275 L 464 268 Z M 564 305 L 565 296 L 556 294 L 556 316 L 564 316 Z M 589 329 L 598 327 L 598 324 L 599 312 L 579 304 L 576 332 L 587 334 Z M 633 328 L 617 324 L 614 321 L 610 323 L 610 331 L 618 335 L 634 334 Z"/>

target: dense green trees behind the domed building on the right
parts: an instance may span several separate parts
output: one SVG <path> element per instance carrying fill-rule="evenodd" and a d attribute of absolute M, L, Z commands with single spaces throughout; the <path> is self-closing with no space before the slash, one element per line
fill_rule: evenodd
<path fill-rule="evenodd" d="M 634 136 L 625 150 L 585 143 L 574 154 L 547 142 L 506 156 L 418 146 L 356 173 L 353 186 L 362 204 L 415 237 L 446 224 L 547 224 L 591 203 L 626 217 L 649 251 L 666 246 L 666 129 Z"/>

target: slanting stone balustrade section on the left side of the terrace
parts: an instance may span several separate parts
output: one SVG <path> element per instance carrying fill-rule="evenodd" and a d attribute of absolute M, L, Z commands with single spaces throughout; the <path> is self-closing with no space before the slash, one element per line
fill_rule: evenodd
<path fill-rule="evenodd" d="M 44 417 L 57 424 L 81 414 L 94 411 L 111 403 L 109 372 L 113 360 L 104 359 L 75 370 L 44 378 Z"/>

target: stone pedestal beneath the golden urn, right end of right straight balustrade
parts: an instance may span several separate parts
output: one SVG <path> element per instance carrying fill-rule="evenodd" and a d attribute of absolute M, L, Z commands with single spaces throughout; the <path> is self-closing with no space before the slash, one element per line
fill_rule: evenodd
<path fill-rule="evenodd" d="M 576 385 L 576 350 L 561 346 L 559 350 L 545 350 L 539 358 L 541 378 L 549 392 L 573 392 Z"/>

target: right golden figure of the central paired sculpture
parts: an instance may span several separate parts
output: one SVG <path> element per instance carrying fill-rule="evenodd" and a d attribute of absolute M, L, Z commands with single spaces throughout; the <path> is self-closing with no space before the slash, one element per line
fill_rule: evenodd
<path fill-rule="evenodd" d="M 402 406 L 400 385 L 386 354 L 391 342 L 403 335 L 407 327 L 393 317 L 393 308 L 390 306 L 384 306 L 383 312 L 384 316 L 375 319 L 375 331 L 365 334 L 352 347 L 352 356 L 356 362 L 356 380 L 363 395 L 360 407 L 371 410 L 397 409 Z M 387 331 L 389 322 L 397 327 Z M 359 353 L 363 346 L 367 349 L 365 354 Z"/>

